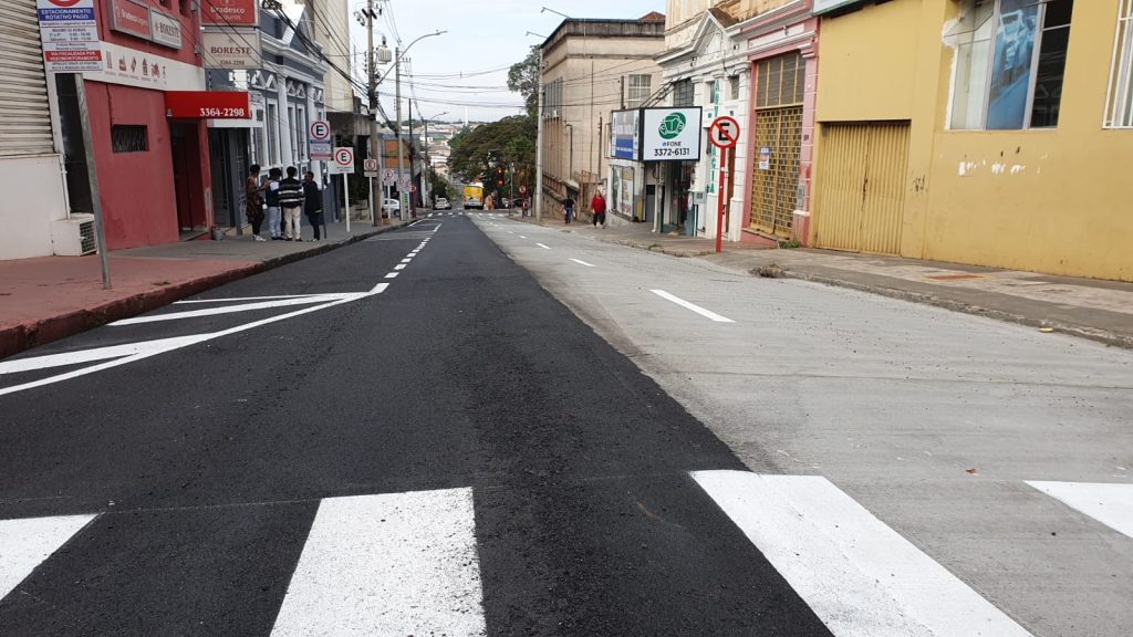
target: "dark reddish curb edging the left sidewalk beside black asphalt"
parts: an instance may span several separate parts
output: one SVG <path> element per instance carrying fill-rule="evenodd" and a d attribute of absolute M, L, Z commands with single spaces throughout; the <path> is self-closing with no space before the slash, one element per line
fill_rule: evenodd
<path fill-rule="evenodd" d="M 338 241 L 329 241 L 303 252 L 274 256 L 253 265 L 240 265 L 232 270 L 227 270 L 218 274 L 210 274 L 176 286 L 162 287 L 155 290 L 147 290 L 130 295 L 125 298 L 114 299 L 95 307 L 86 307 L 67 312 L 34 322 L 22 323 L 9 328 L 0 329 L 0 358 L 7 358 L 25 351 L 33 347 L 46 345 L 51 341 L 65 339 L 107 323 L 121 321 L 152 312 L 159 307 L 167 306 L 205 290 L 231 283 L 240 279 L 246 279 L 253 274 L 274 270 L 289 263 L 303 261 L 313 256 L 320 256 L 331 250 L 346 247 L 365 240 L 382 232 L 389 232 L 403 228 L 411 221 L 402 221 L 391 226 L 374 228 L 372 231 L 352 235 Z"/>

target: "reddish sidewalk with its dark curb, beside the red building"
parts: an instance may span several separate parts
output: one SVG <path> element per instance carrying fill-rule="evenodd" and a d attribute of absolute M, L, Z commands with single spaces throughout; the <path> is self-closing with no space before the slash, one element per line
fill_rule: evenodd
<path fill-rule="evenodd" d="M 347 232 L 342 222 L 327 223 L 321 241 L 305 226 L 304 243 L 244 235 L 114 250 L 110 290 L 97 255 L 0 261 L 0 358 L 401 226 L 352 221 Z"/>

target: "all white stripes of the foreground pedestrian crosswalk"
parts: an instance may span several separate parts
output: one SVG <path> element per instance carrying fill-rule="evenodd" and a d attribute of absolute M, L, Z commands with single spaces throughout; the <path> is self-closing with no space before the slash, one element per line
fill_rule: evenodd
<path fill-rule="evenodd" d="M 1032 634 L 825 477 L 689 478 L 835 637 Z M 1133 484 L 1028 484 L 1133 542 Z M 77 559 L 61 547 L 113 528 L 99 517 L 0 520 L 0 620 L 36 569 Z M 273 637 L 488 632 L 472 489 L 324 499 L 297 554 Z"/>

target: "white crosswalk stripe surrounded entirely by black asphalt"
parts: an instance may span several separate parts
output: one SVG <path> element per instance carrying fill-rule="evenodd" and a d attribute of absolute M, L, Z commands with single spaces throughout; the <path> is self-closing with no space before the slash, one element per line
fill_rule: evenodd
<path fill-rule="evenodd" d="M 318 506 L 272 637 L 483 636 L 472 490 Z"/>

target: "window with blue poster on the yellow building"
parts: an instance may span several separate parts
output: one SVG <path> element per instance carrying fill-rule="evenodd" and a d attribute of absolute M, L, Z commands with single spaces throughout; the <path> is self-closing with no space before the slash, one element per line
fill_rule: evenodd
<path fill-rule="evenodd" d="M 956 49 L 953 129 L 1058 126 L 1074 0 L 965 0 Z"/>

